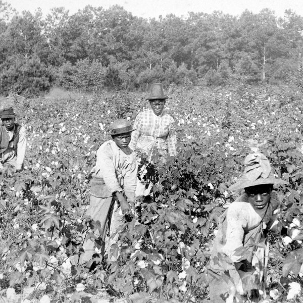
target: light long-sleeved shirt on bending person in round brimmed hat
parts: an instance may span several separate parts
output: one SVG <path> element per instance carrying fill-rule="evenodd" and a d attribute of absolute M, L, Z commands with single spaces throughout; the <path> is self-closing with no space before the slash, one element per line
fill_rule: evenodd
<path fill-rule="evenodd" d="M 137 184 L 137 161 L 133 150 L 126 155 L 113 140 L 106 141 L 97 150 L 97 160 L 92 169 L 91 194 L 110 197 L 124 191 L 127 200 L 134 201 Z"/>

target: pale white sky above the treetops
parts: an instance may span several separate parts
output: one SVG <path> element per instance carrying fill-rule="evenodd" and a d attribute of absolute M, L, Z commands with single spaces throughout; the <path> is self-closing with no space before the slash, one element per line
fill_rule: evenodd
<path fill-rule="evenodd" d="M 187 17 L 188 12 L 204 12 L 211 14 L 222 11 L 225 14 L 240 15 L 245 9 L 259 13 L 264 8 L 283 17 L 286 9 L 303 16 L 303 0 L 4 0 L 17 11 L 34 12 L 41 8 L 47 14 L 51 8 L 65 7 L 71 14 L 83 9 L 86 5 L 93 7 L 109 7 L 118 4 L 134 16 L 143 18 L 165 17 L 167 14 Z"/>

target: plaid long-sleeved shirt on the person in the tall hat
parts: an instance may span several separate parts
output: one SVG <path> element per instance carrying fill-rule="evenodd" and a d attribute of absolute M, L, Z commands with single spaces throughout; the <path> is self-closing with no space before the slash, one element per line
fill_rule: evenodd
<path fill-rule="evenodd" d="M 147 110 L 137 115 L 132 133 L 130 148 L 137 149 L 138 142 L 144 138 L 154 139 L 159 148 L 168 149 L 170 156 L 176 156 L 176 136 L 173 133 L 175 120 L 170 115 L 162 112 L 160 116 L 154 114 L 153 110 Z"/>

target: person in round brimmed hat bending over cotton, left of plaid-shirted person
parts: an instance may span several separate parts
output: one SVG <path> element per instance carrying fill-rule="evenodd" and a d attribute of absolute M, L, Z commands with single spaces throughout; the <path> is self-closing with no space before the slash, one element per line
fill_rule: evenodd
<path fill-rule="evenodd" d="M 137 182 L 137 161 L 134 151 L 128 146 L 131 133 L 134 131 L 129 121 L 121 119 L 114 121 L 110 126 L 112 140 L 103 143 L 97 150 L 97 160 L 92 169 L 92 182 L 90 187 L 90 204 L 87 215 L 94 221 L 99 221 L 100 229 L 96 236 L 105 243 L 106 226 L 109 223 L 110 239 L 108 243 L 109 260 L 115 261 L 110 248 L 119 236 L 119 225 L 124 215 L 132 215 L 131 205 L 135 200 Z M 83 248 L 84 254 L 80 262 L 91 261 L 94 242 L 86 240 Z M 101 250 L 101 257 L 104 255 Z"/>

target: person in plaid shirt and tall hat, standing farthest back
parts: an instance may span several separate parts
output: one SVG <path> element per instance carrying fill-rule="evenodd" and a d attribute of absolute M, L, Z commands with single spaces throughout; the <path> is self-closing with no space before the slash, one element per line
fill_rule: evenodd
<path fill-rule="evenodd" d="M 150 85 L 150 92 L 146 98 L 149 101 L 150 109 L 137 115 L 134 122 L 136 130 L 130 142 L 130 147 L 137 153 L 138 161 L 143 159 L 144 162 L 150 163 L 155 149 L 158 151 L 161 161 L 165 161 L 167 155 L 177 155 L 176 136 L 173 131 L 175 121 L 164 110 L 167 98 L 161 83 Z M 151 185 L 146 186 L 144 180 L 146 165 L 140 169 L 139 175 L 142 182 L 138 180 L 136 195 L 147 195 Z"/>

